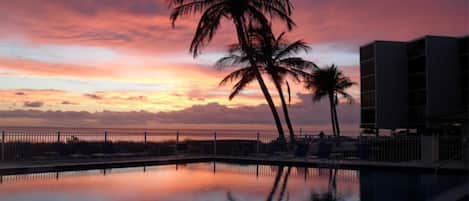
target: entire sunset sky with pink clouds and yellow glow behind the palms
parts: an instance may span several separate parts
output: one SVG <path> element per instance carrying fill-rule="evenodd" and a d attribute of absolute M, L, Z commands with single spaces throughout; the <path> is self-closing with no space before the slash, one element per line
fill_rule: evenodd
<path fill-rule="evenodd" d="M 320 66 L 337 64 L 356 82 L 360 45 L 469 30 L 467 0 L 292 3 L 297 26 L 287 37 L 312 48 L 301 56 Z M 0 0 L 0 126 L 272 128 L 256 83 L 231 101 L 231 88 L 218 85 L 233 70 L 213 67 L 236 41 L 232 24 L 225 20 L 193 58 L 188 49 L 199 16 L 172 28 L 169 13 L 164 0 Z M 339 118 L 358 128 L 359 85 L 349 92 L 357 101 L 340 105 Z M 295 125 L 329 123 L 327 103 L 313 105 L 301 83 L 292 93 Z"/>

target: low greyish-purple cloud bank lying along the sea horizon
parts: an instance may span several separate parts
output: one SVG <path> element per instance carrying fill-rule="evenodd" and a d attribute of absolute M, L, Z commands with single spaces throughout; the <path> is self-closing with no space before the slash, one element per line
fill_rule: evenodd
<path fill-rule="evenodd" d="M 311 95 L 298 94 L 300 102 L 290 106 L 292 122 L 297 126 L 328 125 L 329 104 L 321 101 L 313 104 Z M 338 107 L 340 122 L 358 130 L 359 105 L 341 104 Z M 223 117 L 223 118 L 221 118 Z M 256 124 L 272 125 L 273 120 L 266 105 L 230 108 L 218 103 L 193 105 L 171 112 L 86 112 L 86 111 L 40 111 L 10 110 L 0 111 L 0 120 L 32 119 L 51 126 L 142 126 L 165 124 Z M 5 121 L 8 122 L 8 121 Z M 4 125 L 5 126 L 5 125 Z M 14 125 L 8 125 L 14 126 Z M 102 126 L 101 126 L 102 127 Z M 327 129 L 327 127 L 326 127 Z"/>

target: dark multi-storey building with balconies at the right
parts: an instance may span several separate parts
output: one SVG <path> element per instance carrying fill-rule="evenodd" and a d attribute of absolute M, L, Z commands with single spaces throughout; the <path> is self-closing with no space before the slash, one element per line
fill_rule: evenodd
<path fill-rule="evenodd" d="M 360 47 L 361 127 L 467 132 L 468 38 Z"/>

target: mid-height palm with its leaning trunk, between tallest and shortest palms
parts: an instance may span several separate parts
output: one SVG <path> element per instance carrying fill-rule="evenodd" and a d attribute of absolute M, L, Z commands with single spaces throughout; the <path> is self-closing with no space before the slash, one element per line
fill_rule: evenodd
<path fill-rule="evenodd" d="M 302 40 L 297 40 L 292 43 L 285 39 L 285 32 L 275 37 L 271 29 L 265 27 L 252 27 L 249 30 L 249 39 L 253 45 L 255 53 L 255 61 L 257 67 L 261 72 L 266 73 L 273 81 L 275 88 L 280 97 L 282 110 L 284 113 L 285 122 L 287 123 L 288 131 L 290 134 L 291 144 L 295 143 L 294 129 L 288 114 L 287 101 L 283 93 L 283 85 L 287 86 L 288 99 L 291 100 L 290 86 L 286 81 L 287 76 L 291 76 L 295 81 L 300 81 L 300 76 L 304 74 L 305 69 L 314 69 L 317 66 L 310 61 L 306 61 L 301 57 L 294 57 L 301 51 L 308 52 L 309 46 Z M 230 99 L 236 96 L 249 82 L 254 79 L 254 70 L 251 70 L 248 63 L 248 55 L 243 52 L 242 48 L 233 44 L 229 48 L 228 56 L 225 56 L 217 61 L 216 66 L 219 68 L 231 67 L 235 65 L 244 65 L 239 71 L 235 71 L 220 83 L 221 85 L 231 81 L 238 81 L 230 95 Z"/>

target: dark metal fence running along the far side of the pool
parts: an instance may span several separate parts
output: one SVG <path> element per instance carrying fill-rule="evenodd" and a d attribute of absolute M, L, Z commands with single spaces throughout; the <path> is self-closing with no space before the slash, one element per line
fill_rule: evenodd
<path fill-rule="evenodd" d="M 301 157 L 390 162 L 422 159 L 420 136 L 333 138 L 297 135 L 296 142 L 294 154 Z M 440 159 L 462 159 L 454 157 L 463 148 L 460 139 L 441 137 L 439 143 Z M 288 154 L 282 150 L 277 136 L 270 133 L 2 131 L 0 144 L 1 161 L 169 155 L 268 156 L 279 153 Z"/>

